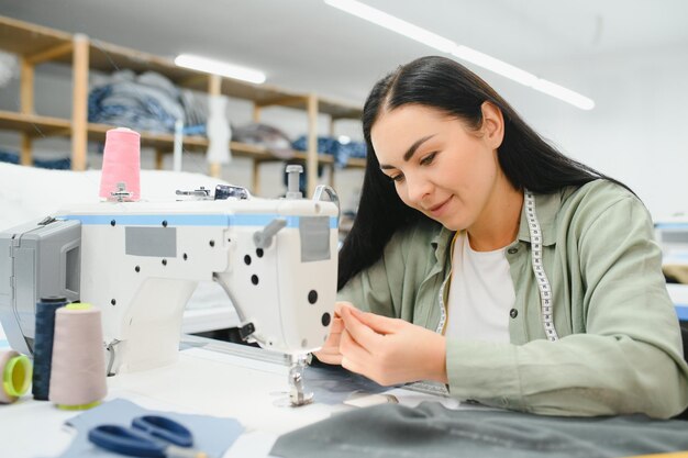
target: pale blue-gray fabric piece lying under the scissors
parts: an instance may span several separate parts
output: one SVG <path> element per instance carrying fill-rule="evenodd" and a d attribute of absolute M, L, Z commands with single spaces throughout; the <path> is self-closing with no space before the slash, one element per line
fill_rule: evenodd
<path fill-rule="evenodd" d="M 140 415 L 164 415 L 181 423 L 193 434 L 193 448 L 206 451 L 210 457 L 221 457 L 244 431 L 234 418 L 149 411 L 131 401 L 114 399 L 67 421 L 67 424 L 77 429 L 77 436 L 59 458 L 121 458 L 122 455 L 91 444 L 87 437 L 88 432 L 102 424 L 131 426 L 132 420 Z"/>

